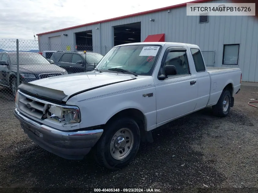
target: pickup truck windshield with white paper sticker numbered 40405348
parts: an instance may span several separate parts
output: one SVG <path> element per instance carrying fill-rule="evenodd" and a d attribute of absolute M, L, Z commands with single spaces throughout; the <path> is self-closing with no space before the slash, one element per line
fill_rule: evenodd
<path fill-rule="evenodd" d="M 111 68 L 121 68 L 138 75 L 150 76 L 160 51 L 160 45 L 127 45 L 115 47 L 104 56 L 97 68 L 104 72 L 114 72 Z M 127 72 L 116 71 L 116 73 Z"/>

